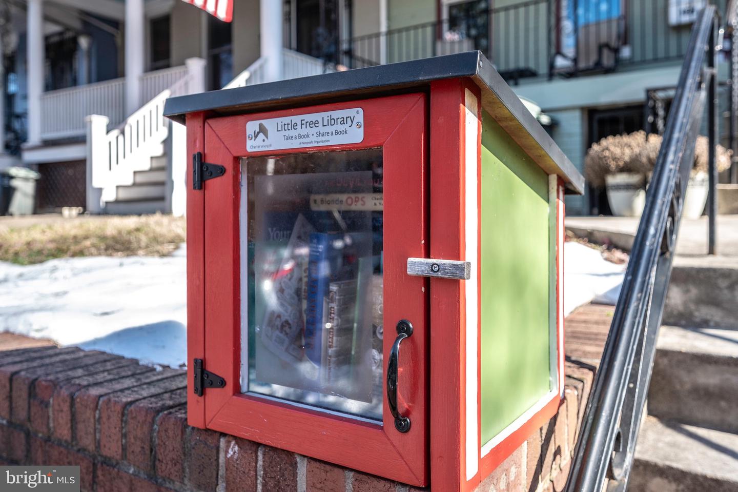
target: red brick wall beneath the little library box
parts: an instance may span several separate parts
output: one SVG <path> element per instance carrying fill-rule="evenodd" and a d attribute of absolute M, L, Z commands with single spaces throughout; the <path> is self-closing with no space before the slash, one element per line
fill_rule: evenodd
<path fill-rule="evenodd" d="M 567 325 L 559 413 L 478 490 L 561 491 L 610 317 Z M 0 352 L 0 464 L 80 465 L 83 491 L 417 492 L 248 440 L 187 426 L 186 375 L 76 348 Z"/>

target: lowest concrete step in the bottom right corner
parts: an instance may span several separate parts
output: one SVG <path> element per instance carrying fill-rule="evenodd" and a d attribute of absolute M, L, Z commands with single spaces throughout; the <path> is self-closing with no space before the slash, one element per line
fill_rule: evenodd
<path fill-rule="evenodd" d="M 738 491 L 738 434 L 646 417 L 627 490 Z"/>

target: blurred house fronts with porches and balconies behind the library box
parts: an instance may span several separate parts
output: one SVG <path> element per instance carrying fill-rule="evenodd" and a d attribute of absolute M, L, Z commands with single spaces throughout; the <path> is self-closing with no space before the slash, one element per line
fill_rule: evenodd
<path fill-rule="evenodd" d="M 702 1 L 3 0 L 0 165 L 41 173 L 39 212 L 182 213 L 170 95 L 481 49 L 581 170 L 601 137 L 658 127 Z"/>

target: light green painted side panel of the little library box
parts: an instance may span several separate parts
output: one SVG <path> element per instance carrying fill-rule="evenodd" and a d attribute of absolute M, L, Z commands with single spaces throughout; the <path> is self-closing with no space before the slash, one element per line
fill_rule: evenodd
<path fill-rule="evenodd" d="M 550 389 L 548 175 L 486 112 L 482 123 L 482 444 Z"/>

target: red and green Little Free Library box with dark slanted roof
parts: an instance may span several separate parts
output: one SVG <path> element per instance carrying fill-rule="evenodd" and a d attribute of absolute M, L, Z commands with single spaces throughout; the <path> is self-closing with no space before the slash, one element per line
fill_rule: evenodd
<path fill-rule="evenodd" d="M 470 491 L 562 400 L 582 176 L 480 52 L 172 98 L 190 425 Z"/>

